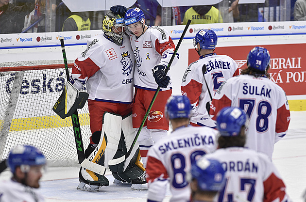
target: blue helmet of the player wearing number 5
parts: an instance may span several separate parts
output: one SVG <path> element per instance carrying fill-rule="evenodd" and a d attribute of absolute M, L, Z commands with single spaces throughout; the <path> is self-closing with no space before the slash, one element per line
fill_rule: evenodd
<path fill-rule="evenodd" d="M 200 30 L 193 39 L 193 46 L 200 44 L 201 49 L 215 49 L 218 37 L 212 30 Z"/>

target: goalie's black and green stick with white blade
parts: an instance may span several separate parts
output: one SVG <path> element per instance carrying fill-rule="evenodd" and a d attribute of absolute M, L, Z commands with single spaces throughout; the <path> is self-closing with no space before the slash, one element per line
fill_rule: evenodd
<path fill-rule="evenodd" d="M 65 51 L 64 37 L 61 36 L 59 39 L 61 41 L 66 76 L 67 76 L 67 80 L 69 81 L 69 71 L 68 71 L 68 63 L 67 63 L 67 57 L 66 57 L 66 51 Z M 93 163 L 85 158 L 78 109 L 76 109 L 75 112 L 71 115 L 71 120 L 72 120 L 75 145 L 76 145 L 78 160 L 79 160 L 80 165 L 90 171 L 94 171 L 99 174 L 104 174 L 106 171 L 106 168 L 104 166 Z"/>

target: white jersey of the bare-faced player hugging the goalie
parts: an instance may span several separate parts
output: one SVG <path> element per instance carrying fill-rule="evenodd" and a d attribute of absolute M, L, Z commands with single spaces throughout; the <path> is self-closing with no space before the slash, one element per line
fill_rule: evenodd
<path fill-rule="evenodd" d="M 138 38 L 131 33 L 129 35 L 136 59 L 134 86 L 140 89 L 155 91 L 158 85 L 153 77 L 152 69 L 156 64 L 168 66 L 175 45 L 168 31 L 158 26 L 148 27 L 147 31 Z M 178 58 L 178 53 L 176 53 L 170 69 L 174 68 Z M 170 76 L 170 71 L 167 76 Z M 171 89 L 171 80 L 167 88 L 161 88 L 162 91 L 169 89 Z"/>

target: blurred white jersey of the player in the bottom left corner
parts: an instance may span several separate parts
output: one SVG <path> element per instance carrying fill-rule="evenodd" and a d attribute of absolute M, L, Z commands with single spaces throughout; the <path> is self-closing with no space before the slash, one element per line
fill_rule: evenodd
<path fill-rule="evenodd" d="M 13 180 L 0 182 L 0 202 L 44 202 L 37 189 Z"/>

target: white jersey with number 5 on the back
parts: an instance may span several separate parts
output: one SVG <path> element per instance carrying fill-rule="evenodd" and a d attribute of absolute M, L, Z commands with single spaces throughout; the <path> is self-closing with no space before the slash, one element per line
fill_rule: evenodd
<path fill-rule="evenodd" d="M 192 62 L 185 71 L 182 79 L 181 91 L 191 102 L 192 116 L 190 122 L 198 125 L 214 127 L 216 124 L 210 118 L 206 103 L 211 101 L 202 67 L 206 65 L 205 80 L 208 89 L 214 98 L 219 86 L 228 78 L 240 75 L 237 63 L 226 55 L 216 53 L 201 56 L 196 62 Z"/>

